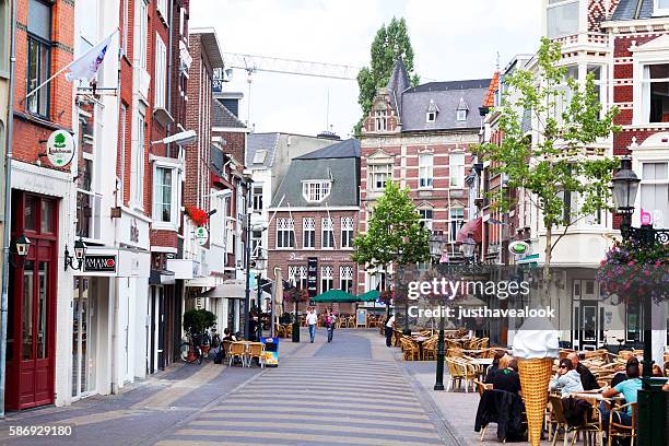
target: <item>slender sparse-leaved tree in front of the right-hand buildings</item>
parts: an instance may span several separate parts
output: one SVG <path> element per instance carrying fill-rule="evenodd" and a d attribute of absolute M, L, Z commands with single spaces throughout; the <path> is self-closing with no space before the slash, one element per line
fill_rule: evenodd
<path fill-rule="evenodd" d="M 577 221 L 609 209 L 609 185 L 618 162 L 603 151 L 588 151 L 598 140 L 619 131 L 613 124 L 617 108 L 601 110 L 594 75 L 585 84 L 567 77 L 560 43 L 541 40 L 533 70 L 516 70 L 505 79 L 508 90 L 500 114 L 502 142 L 477 148 L 492 174 L 505 174 L 508 188 L 529 192 L 542 213 L 545 227 L 543 280 L 550 281 L 551 255 L 567 228 Z M 530 117 L 531 140 L 523 126 Z M 572 208 L 565 197 L 577 203 Z M 516 206 L 500 188 L 490 193 L 497 209 Z M 562 227 L 553 239 L 553 233 Z M 548 285 L 545 285 L 548 293 Z"/>

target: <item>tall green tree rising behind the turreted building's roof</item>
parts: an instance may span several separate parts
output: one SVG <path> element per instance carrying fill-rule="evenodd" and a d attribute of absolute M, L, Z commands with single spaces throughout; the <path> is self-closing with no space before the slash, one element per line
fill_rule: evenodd
<path fill-rule="evenodd" d="M 363 110 L 363 117 L 355 125 L 354 134 L 360 136 L 363 119 L 369 114 L 376 89 L 386 86 L 392 74 L 395 61 L 402 58 L 411 79 L 411 85 L 419 83 L 419 77 L 413 72 L 413 48 L 409 40 L 409 32 L 404 19 L 392 17 L 388 26 L 385 24 L 376 32 L 372 42 L 369 67 L 363 67 L 357 73 L 357 103 Z"/>

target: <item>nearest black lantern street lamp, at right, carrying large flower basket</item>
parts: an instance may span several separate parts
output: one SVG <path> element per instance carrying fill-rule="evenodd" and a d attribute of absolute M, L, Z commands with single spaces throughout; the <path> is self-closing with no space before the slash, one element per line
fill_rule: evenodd
<path fill-rule="evenodd" d="M 639 249 L 648 249 L 656 244 L 669 242 L 669 231 L 654 230 L 652 224 L 642 224 L 641 227 L 632 226 L 632 214 L 634 213 L 634 200 L 638 191 L 641 179 L 632 171 L 632 160 L 623 157 L 620 163 L 620 171 L 611 179 L 611 195 L 613 204 L 619 214 L 622 214 L 620 233 L 625 240 L 635 240 Z M 652 389 L 650 376 L 653 374 L 653 330 L 650 312 L 653 305 L 650 296 L 639 296 L 644 298 L 644 373 L 643 390 L 639 391 L 639 444 L 652 444 L 653 430 L 650 420 L 654 416 L 650 412 L 657 400 L 661 398 L 661 391 Z M 657 439 L 657 438 L 656 438 Z"/>

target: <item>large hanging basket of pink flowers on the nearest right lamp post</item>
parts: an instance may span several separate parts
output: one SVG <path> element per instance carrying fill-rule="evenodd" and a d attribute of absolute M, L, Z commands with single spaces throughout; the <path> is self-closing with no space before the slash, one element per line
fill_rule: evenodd
<path fill-rule="evenodd" d="M 669 245 L 642 246 L 636 240 L 615 242 L 600 262 L 595 278 L 609 295 L 624 302 L 652 297 L 666 301 L 669 281 Z"/>

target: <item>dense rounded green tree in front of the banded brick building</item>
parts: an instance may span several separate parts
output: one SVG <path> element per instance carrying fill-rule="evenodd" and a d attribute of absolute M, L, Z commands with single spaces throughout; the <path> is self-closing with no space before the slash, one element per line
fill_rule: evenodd
<path fill-rule="evenodd" d="M 366 270 L 385 271 L 391 265 L 430 260 L 430 231 L 421 225 L 409 190 L 387 181 L 367 222 L 367 232 L 355 236 L 351 259 Z"/>

